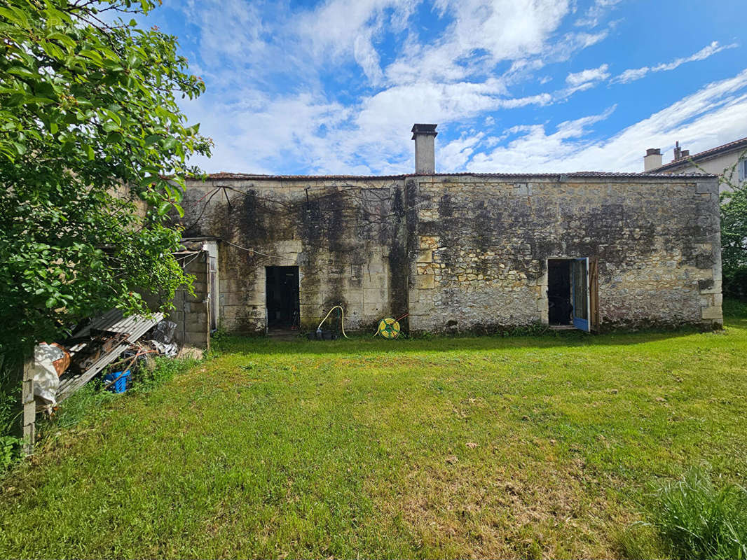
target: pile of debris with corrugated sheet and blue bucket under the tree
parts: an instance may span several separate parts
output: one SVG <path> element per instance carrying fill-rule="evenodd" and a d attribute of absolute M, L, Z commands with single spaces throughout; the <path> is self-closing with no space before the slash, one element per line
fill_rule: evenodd
<path fill-rule="evenodd" d="M 131 374 L 152 367 L 156 355 L 175 358 L 176 323 L 153 317 L 123 317 L 112 310 L 93 320 L 61 343 L 40 343 L 34 348 L 33 395 L 37 411 L 52 408 L 78 391 L 99 373 L 104 388 L 123 393 Z"/>

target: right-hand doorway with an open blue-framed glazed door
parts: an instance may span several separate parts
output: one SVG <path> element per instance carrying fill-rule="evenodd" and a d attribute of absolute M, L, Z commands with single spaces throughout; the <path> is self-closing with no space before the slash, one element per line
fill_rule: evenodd
<path fill-rule="evenodd" d="M 596 265 L 596 262 L 591 263 Z M 593 269 L 590 289 L 589 270 Z M 590 331 L 596 304 L 591 297 L 596 290 L 596 266 L 590 267 L 589 258 L 548 259 L 548 323 L 553 326 L 574 326 Z"/>

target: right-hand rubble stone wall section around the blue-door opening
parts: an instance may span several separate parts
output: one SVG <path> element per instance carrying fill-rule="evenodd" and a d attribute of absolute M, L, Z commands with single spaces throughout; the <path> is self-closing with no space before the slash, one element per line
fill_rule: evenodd
<path fill-rule="evenodd" d="M 416 331 L 548 322 L 547 261 L 598 262 L 602 329 L 721 321 L 715 178 L 413 178 Z"/>

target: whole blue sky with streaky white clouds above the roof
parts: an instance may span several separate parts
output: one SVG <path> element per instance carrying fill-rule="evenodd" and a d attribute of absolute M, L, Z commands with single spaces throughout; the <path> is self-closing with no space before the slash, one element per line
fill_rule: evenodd
<path fill-rule="evenodd" d="M 642 171 L 747 136 L 744 0 L 164 0 L 208 172 Z"/>

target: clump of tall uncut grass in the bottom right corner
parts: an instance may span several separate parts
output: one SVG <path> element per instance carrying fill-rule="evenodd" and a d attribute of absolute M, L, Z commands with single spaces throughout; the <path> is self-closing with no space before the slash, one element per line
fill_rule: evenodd
<path fill-rule="evenodd" d="M 675 559 L 747 558 L 747 491 L 693 469 L 655 494 L 650 525 Z"/>

